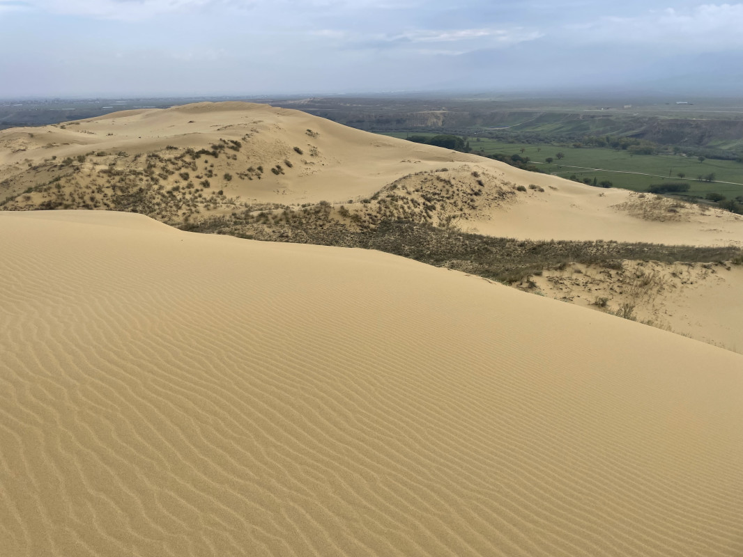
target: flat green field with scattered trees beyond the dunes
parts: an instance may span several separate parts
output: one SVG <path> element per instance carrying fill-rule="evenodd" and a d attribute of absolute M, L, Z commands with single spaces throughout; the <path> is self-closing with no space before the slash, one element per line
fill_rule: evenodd
<path fill-rule="evenodd" d="M 385 135 L 404 139 L 409 134 L 403 131 Z M 690 190 L 685 195 L 703 197 L 708 192 L 717 192 L 728 199 L 743 195 L 743 163 L 734 160 L 705 159 L 700 163 L 696 158 L 674 154 L 632 155 L 627 151 L 599 147 L 574 149 L 557 143 L 505 143 L 485 137 L 470 137 L 469 141 L 473 152 L 482 150 L 485 154 L 501 153 L 507 156 L 519 154 L 529 157 L 531 163 L 548 174 L 565 178 L 575 175 L 579 181 L 584 177 L 591 180 L 596 177 L 597 182 L 609 180 L 614 187 L 642 192 L 654 183 L 681 181 L 678 173 L 682 172 L 685 175 L 684 181 L 688 181 L 690 185 Z M 557 160 L 555 155 L 558 152 L 565 154 L 562 160 Z M 547 157 L 552 157 L 554 162 L 546 163 Z M 632 174 L 633 172 L 637 174 Z M 696 179 L 710 173 L 715 174 L 715 182 Z"/>

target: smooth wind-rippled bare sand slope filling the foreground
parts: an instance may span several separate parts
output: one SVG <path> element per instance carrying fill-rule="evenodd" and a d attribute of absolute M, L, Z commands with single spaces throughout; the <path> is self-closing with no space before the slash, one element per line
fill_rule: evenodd
<path fill-rule="evenodd" d="M 743 554 L 743 356 L 363 250 L 0 213 L 3 556 Z"/>

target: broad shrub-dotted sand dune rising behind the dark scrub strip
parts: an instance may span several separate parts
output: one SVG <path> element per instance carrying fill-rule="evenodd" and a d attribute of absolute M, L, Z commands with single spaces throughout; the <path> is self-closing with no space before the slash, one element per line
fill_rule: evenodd
<path fill-rule="evenodd" d="M 177 159 L 184 149 L 209 150 L 220 140 L 225 145 L 239 141 L 242 146 L 237 152 L 224 149 L 216 158 L 205 155 L 194 160 L 191 169 L 185 164 L 192 162 L 190 157 Z M 152 154 L 160 158 L 149 158 Z M 83 162 L 75 158 L 80 155 Z M 66 157 L 71 157 L 71 163 L 61 166 Z M 262 173 L 248 172 L 257 166 L 262 166 Z M 280 172 L 273 174 L 270 169 L 276 166 Z M 156 167 L 156 172 L 148 174 L 148 167 Z M 117 112 L 68 123 L 64 128 L 0 131 L 0 174 L 6 179 L 0 183 L 0 201 L 18 196 L 8 207 L 38 207 L 68 188 L 74 189 L 74 194 L 62 196 L 60 208 L 131 210 L 112 201 L 112 186 L 120 188 L 117 184 L 127 173 L 140 186 L 161 188 L 163 196 L 174 186 L 184 188 L 189 180 L 190 191 L 198 190 L 206 176 L 210 186 L 201 189 L 201 196 L 189 197 L 177 210 L 163 209 L 161 200 L 157 207 L 137 208 L 174 224 L 182 222 L 184 215 L 230 214 L 250 203 L 359 201 L 403 176 L 441 168 L 455 175 L 483 172 L 493 177 L 495 188 L 534 184 L 545 190 L 519 192 L 509 203 L 491 207 L 487 214 L 466 215 L 458 223 L 464 229 L 513 238 L 743 245 L 740 215 L 658 206 L 655 196 L 637 198 L 622 189 L 597 189 L 268 105 L 201 102 L 165 110 Z M 180 177 L 183 170 L 189 171 L 189 178 Z M 68 178 L 73 171 L 74 176 Z M 224 179 L 226 173 L 232 176 L 230 180 Z M 65 179 L 51 182 L 59 176 Z M 40 192 L 43 189 L 45 194 Z M 217 191 L 223 195 L 215 196 Z M 178 195 L 182 192 L 184 189 Z M 461 211 L 455 214 L 461 215 Z"/>

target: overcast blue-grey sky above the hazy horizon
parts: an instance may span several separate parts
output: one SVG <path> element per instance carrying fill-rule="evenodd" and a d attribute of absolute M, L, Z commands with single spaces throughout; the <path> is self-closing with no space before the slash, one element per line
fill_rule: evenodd
<path fill-rule="evenodd" d="M 743 4 L 0 0 L 0 97 L 742 93 Z"/>

